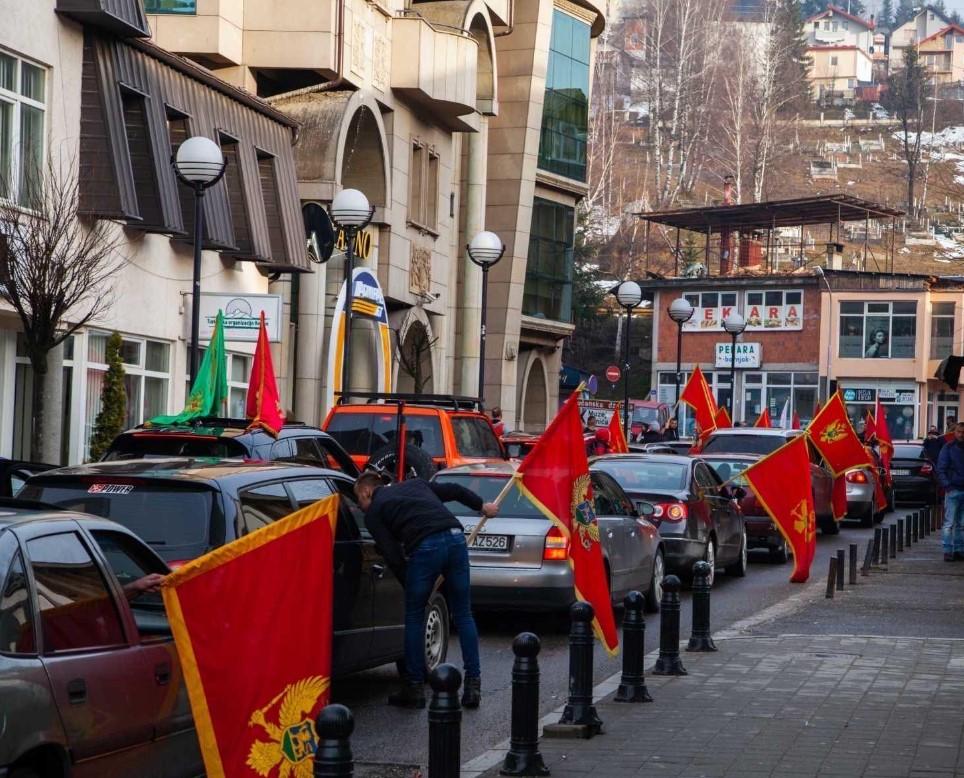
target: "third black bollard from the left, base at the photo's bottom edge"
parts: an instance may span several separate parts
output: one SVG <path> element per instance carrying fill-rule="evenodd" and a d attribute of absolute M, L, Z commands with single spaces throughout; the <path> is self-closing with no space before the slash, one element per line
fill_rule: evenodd
<path fill-rule="evenodd" d="M 512 734 L 500 775 L 549 775 L 539 753 L 539 638 L 531 632 L 512 641 Z"/>

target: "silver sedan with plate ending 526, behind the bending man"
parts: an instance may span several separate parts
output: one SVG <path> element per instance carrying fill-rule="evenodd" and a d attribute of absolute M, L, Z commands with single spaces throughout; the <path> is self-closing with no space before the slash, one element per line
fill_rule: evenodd
<path fill-rule="evenodd" d="M 484 500 L 493 500 L 516 464 L 476 464 L 436 474 L 436 481 L 458 483 Z M 603 559 L 613 602 L 632 590 L 644 593 L 646 609 L 659 609 L 664 559 L 659 530 L 606 473 L 592 469 L 593 510 L 599 525 Z M 466 535 L 479 521 L 460 503 L 447 507 L 462 522 Z M 647 505 L 639 506 L 646 511 Z M 650 508 L 650 512 L 652 508 Z M 563 610 L 575 596 L 563 534 L 516 487 L 489 519 L 469 549 L 472 604 L 482 609 Z"/>

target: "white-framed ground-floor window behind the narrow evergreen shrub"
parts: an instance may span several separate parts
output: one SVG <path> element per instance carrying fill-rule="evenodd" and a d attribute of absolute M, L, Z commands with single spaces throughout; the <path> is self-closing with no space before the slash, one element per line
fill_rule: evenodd
<path fill-rule="evenodd" d="M 100 413 L 100 393 L 107 374 L 106 332 L 87 335 L 87 398 L 84 413 L 84 458 Z M 125 335 L 121 341 L 124 389 L 127 392 L 127 427 L 136 427 L 167 413 L 171 381 L 171 344 Z"/>

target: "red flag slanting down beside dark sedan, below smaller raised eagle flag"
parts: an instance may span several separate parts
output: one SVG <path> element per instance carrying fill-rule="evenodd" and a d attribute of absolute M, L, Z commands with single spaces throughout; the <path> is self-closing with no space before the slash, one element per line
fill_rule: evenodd
<path fill-rule="evenodd" d="M 743 471 L 743 476 L 793 549 L 792 583 L 810 577 L 817 548 L 817 523 L 810 484 L 806 435 L 797 435 Z"/>

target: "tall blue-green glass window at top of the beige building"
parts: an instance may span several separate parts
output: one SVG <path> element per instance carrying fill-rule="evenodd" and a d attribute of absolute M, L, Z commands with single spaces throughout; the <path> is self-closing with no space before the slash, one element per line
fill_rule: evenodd
<path fill-rule="evenodd" d="M 589 127 L 589 25 L 556 9 L 539 139 L 539 168 L 586 180 Z"/>

